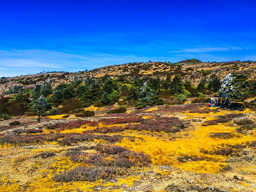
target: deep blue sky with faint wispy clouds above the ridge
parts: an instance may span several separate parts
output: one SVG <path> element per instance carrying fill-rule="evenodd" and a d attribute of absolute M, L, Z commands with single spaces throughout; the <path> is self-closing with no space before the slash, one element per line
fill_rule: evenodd
<path fill-rule="evenodd" d="M 0 77 L 256 60 L 255 1 L 0 0 Z"/>

